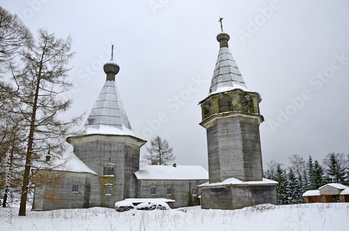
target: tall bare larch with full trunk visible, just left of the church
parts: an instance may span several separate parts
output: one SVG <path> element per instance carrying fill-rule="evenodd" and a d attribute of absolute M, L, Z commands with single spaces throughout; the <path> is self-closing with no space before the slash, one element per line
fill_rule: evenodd
<path fill-rule="evenodd" d="M 27 131 L 20 216 L 26 214 L 31 166 L 45 162 L 49 153 L 61 156 L 66 148 L 65 138 L 81 119 L 81 116 L 66 120 L 59 117 L 72 103 L 61 96 L 73 87 L 67 80 L 68 61 L 73 57 L 70 45 L 70 37 L 56 38 L 53 33 L 39 29 L 38 42 L 22 52 L 23 67 L 13 75 L 20 86 L 21 105 L 16 112 L 24 117 L 21 126 Z"/>

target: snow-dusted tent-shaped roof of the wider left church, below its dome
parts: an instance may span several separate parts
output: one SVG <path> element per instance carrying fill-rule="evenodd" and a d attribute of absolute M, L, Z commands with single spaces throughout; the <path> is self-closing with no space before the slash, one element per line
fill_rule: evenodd
<path fill-rule="evenodd" d="M 84 127 L 87 135 L 134 135 L 114 81 L 105 81 Z"/>

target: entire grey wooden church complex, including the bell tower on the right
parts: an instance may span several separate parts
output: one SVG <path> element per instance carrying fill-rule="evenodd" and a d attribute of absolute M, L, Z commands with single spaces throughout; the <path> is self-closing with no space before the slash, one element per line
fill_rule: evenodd
<path fill-rule="evenodd" d="M 33 210 L 114 207 L 125 199 L 162 198 L 172 207 L 201 202 L 203 209 L 239 209 L 276 204 L 276 181 L 263 179 L 259 125 L 260 95 L 249 91 L 228 48 L 228 33 L 220 44 L 209 95 L 200 102 L 207 130 L 209 171 L 202 166 L 140 166 L 146 143 L 131 128 L 115 84 L 119 66 L 104 66 L 106 81 L 84 128 L 68 137 L 72 145 L 68 168 L 34 171 L 47 177 L 64 173 L 51 184 L 35 188 Z M 54 200 L 50 200 L 54 198 Z"/>

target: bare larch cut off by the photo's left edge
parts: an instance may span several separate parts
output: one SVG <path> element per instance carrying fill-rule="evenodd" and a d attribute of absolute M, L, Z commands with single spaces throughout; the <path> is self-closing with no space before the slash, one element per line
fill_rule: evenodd
<path fill-rule="evenodd" d="M 22 117 L 13 112 L 19 103 L 16 97 L 19 87 L 10 75 L 11 70 L 17 68 L 18 54 L 32 42 L 31 32 L 20 18 L 0 6 L 0 164 L 3 166 L 0 169 L 0 188 L 5 188 L 3 207 L 8 204 L 8 194 L 17 191 L 20 185 L 24 153 L 22 141 L 25 132 L 19 126 Z"/>

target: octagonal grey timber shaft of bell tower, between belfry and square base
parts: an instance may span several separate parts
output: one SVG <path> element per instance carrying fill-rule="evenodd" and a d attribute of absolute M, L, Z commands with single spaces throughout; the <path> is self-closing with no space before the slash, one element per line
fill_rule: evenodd
<path fill-rule="evenodd" d="M 216 114 L 201 123 L 207 129 L 209 182 L 230 177 L 262 180 L 260 117 L 238 112 Z"/>

